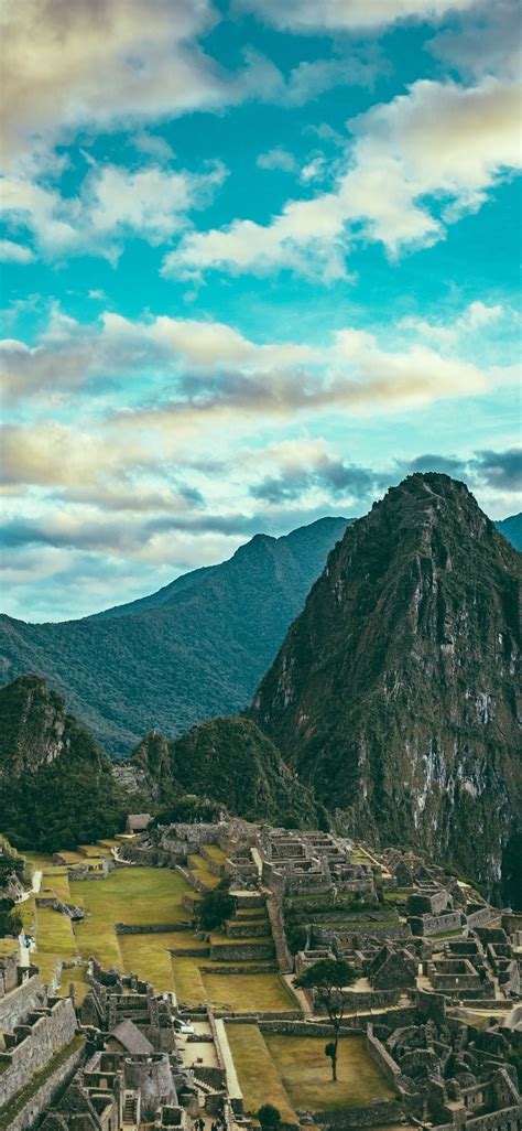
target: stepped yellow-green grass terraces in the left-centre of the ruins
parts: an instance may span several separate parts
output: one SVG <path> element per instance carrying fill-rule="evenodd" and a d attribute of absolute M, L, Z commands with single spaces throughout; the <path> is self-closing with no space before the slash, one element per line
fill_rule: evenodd
<path fill-rule="evenodd" d="M 218 1011 L 238 1013 L 284 1013 L 296 1009 L 295 999 L 277 970 L 270 970 L 270 962 L 267 972 L 250 973 L 256 962 L 235 960 L 237 940 L 219 932 L 212 934 L 212 940 L 225 949 L 225 956 L 230 950 L 230 959 L 221 953 L 219 960 L 211 960 L 209 944 L 198 940 L 190 929 L 191 916 L 183 899 L 186 896 L 192 899 L 197 893 L 180 873 L 131 865 L 114 869 L 105 880 L 69 879 L 68 864 L 96 861 L 99 853 L 108 851 L 108 844 L 82 845 L 78 853 L 60 853 L 64 862 L 61 865 L 53 864 L 50 857 L 31 856 L 32 866 L 43 873 L 41 895 L 54 895 L 60 901 L 85 910 L 84 920 L 71 921 L 52 907 L 36 907 L 34 896 L 20 904 L 26 933 L 36 939 L 33 960 L 44 981 L 60 982 L 62 994 L 73 983 L 77 1001 L 81 1001 L 87 990 L 87 961 L 94 957 L 104 967 L 115 966 L 125 974 L 137 974 L 162 993 L 175 992 L 189 1008 L 211 1001 Z M 223 853 L 216 848 L 209 855 L 219 863 Z M 212 886 L 217 882 L 208 871 L 207 860 L 192 857 L 191 865 L 198 873 L 205 873 L 207 880 L 211 878 Z M 252 922 L 266 920 L 263 908 L 242 914 Z M 143 931 L 119 934 L 116 924 Z M 171 930 L 146 930 L 158 925 Z M 251 940 L 242 938 L 246 955 L 249 942 L 272 948 L 269 934 Z M 244 973 L 234 973 L 237 969 Z"/>

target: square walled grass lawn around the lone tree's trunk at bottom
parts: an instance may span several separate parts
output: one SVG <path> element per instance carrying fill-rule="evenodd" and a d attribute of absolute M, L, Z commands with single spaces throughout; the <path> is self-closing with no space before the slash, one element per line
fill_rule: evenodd
<path fill-rule="evenodd" d="M 266 1041 L 289 1099 L 298 1108 L 319 1112 L 359 1107 L 377 1097 L 391 1099 L 394 1095 L 363 1037 L 340 1039 L 337 1082 L 331 1079 L 330 1061 L 324 1055 L 324 1037 L 267 1033 Z"/>

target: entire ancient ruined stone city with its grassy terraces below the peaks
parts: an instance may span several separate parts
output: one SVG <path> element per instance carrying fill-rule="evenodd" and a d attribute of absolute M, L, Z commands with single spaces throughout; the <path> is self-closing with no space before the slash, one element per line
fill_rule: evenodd
<path fill-rule="evenodd" d="M 412 851 L 141 815 L 2 841 L 1 1131 L 253 1131 L 263 1104 L 287 1131 L 520 1131 L 521 914 Z M 321 964 L 350 974 L 336 1082 L 296 984 Z"/>

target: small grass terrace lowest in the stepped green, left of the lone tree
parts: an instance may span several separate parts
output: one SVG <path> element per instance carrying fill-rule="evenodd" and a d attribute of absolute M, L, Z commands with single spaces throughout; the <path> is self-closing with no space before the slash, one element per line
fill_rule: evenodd
<path fill-rule="evenodd" d="M 287 986 L 277 974 L 202 973 L 207 998 L 216 1009 L 237 1013 L 285 1013 L 297 1009 Z"/>

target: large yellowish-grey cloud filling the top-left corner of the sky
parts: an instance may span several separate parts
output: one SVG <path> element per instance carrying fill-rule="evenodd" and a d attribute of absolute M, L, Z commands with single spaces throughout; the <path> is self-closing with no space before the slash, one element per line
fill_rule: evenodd
<path fill-rule="evenodd" d="M 217 19 L 210 0 L 6 0 L 6 157 L 79 127 L 216 110 L 262 90 L 262 67 L 228 75 L 200 48 Z"/>

